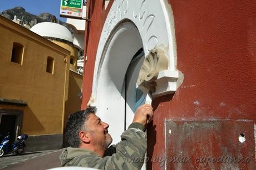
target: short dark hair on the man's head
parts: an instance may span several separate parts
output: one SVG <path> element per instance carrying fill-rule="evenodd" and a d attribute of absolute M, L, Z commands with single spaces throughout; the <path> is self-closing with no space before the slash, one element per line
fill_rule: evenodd
<path fill-rule="evenodd" d="M 88 120 L 90 114 L 95 114 L 96 107 L 88 107 L 86 110 L 76 111 L 68 116 L 65 139 L 71 147 L 80 147 L 80 138 L 78 133 L 83 130 L 83 125 Z"/>

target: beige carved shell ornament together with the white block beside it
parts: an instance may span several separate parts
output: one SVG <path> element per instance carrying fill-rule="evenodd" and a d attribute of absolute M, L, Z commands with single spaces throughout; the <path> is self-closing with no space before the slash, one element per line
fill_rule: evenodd
<path fill-rule="evenodd" d="M 179 71 L 168 70 L 168 65 L 165 51 L 161 47 L 152 49 L 141 66 L 137 85 L 149 89 L 152 97 L 175 92 L 179 86 L 177 80 L 183 75 Z"/>

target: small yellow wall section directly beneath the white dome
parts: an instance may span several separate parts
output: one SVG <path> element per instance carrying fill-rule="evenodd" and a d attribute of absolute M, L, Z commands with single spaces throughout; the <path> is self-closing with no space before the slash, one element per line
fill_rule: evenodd
<path fill-rule="evenodd" d="M 77 53 L 78 50 L 71 45 L 66 43 L 58 42 L 57 40 L 52 40 L 53 43 L 60 45 L 60 47 L 65 48 L 66 50 L 70 51 L 70 58 L 73 58 L 74 63 L 70 64 L 70 70 L 77 71 Z"/>

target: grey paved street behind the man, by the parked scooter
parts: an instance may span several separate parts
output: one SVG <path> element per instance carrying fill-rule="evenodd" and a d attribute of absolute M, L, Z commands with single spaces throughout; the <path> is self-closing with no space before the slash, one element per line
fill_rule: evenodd
<path fill-rule="evenodd" d="M 60 165 L 58 156 L 62 150 L 27 152 L 22 155 L 0 158 L 0 169 L 48 169 Z"/>

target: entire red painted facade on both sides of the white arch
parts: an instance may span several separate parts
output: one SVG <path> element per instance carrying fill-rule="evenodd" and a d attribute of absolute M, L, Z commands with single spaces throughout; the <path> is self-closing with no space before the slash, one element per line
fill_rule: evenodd
<path fill-rule="evenodd" d="M 104 1 L 88 1 L 88 18 L 92 21 L 86 25 L 88 60 L 83 77 L 82 108 L 90 99 L 97 45 L 112 2 L 105 11 Z M 164 169 L 154 162 L 154 157 L 165 157 L 165 148 L 176 147 L 179 143 L 170 141 L 165 145 L 164 141 L 168 141 L 165 120 L 173 120 L 179 128 L 185 126 L 184 122 L 199 123 L 200 140 L 193 138 L 198 138 L 195 133 L 189 135 L 191 140 L 184 137 L 184 141 L 193 143 L 189 145 L 191 148 L 184 146 L 187 157 L 191 154 L 199 157 L 219 157 L 224 153 L 231 157 L 242 155 L 250 157 L 250 162 L 232 162 L 226 168 L 255 168 L 255 143 L 252 141 L 256 122 L 256 1 L 169 0 L 169 3 L 175 24 L 177 69 L 184 74 L 184 81 L 174 95 L 157 97 L 152 102 L 155 116 L 148 130 L 147 156 L 151 159 L 147 168 Z M 214 123 L 213 126 L 221 123 L 221 126 L 212 128 L 216 131 L 205 135 L 203 140 L 204 133 L 210 131 L 204 131 L 205 122 L 200 124 L 200 121 Z M 244 144 L 238 141 L 239 134 L 245 135 Z M 184 141 L 181 141 L 183 145 Z M 170 149 L 166 156 L 177 156 L 178 152 Z M 167 166 L 174 169 L 178 164 L 168 163 Z M 211 166 L 220 169 L 221 163 L 204 166 L 192 161 L 189 166 L 182 164 L 181 169 L 210 169 Z"/>

